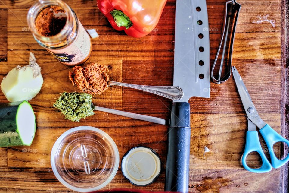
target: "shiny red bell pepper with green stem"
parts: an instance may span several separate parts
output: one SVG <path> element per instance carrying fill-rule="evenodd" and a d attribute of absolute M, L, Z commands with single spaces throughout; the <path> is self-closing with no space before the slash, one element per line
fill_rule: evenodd
<path fill-rule="evenodd" d="M 112 27 L 132 37 L 143 37 L 157 26 L 167 0 L 97 0 Z"/>

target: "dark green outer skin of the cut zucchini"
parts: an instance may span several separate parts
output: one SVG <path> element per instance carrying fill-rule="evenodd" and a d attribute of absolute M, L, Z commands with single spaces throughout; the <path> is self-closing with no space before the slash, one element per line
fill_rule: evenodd
<path fill-rule="evenodd" d="M 0 104 L 0 147 L 24 145 L 16 131 L 16 113 L 22 102 Z"/>

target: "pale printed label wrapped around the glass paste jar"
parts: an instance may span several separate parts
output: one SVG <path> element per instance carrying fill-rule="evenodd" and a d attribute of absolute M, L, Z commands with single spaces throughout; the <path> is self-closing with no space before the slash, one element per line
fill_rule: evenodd
<path fill-rule="evenodd" d="M 75 40 L 62 49 L 47 49 L 59 62 L 76 65 L 85 62 L 91 51 L 91 40 L 78 20 L 78 32 Z"/>

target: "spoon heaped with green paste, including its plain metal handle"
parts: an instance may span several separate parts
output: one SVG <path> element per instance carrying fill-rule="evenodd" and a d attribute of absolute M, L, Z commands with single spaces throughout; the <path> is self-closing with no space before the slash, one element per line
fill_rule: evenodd
<path fill-rule="evenodd" d="M 161 125 L 169 125 L 169 121 L 166 119 L 94 106 L 92 103 L 92 95 L 87 93 L 61 93 L 53 106 L 61 111 L 65 116 L 65 119 L 76 122 L 79 122 L 80 119 L 85 119 L 85 117 L 94 115 L 93 111 L 97 110 Z"/>

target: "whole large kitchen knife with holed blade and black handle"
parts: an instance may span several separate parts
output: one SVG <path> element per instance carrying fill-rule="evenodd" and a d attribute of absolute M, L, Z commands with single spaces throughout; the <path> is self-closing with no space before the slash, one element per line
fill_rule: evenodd
<path fill-rule="evenodd" d="M 183 96 L 173 100 L 168 128 L 165 191 L 188 192 L 193 97 L 210 98 L 210 40 L 205 0 L 176 0 L 173 85 Z"/>

